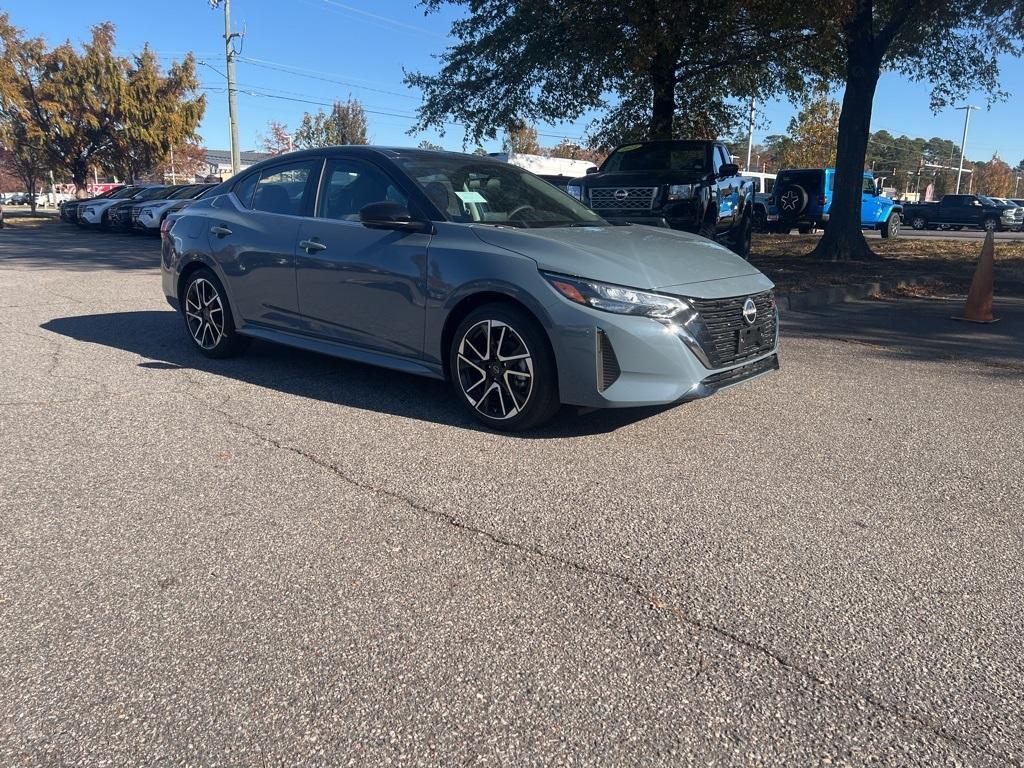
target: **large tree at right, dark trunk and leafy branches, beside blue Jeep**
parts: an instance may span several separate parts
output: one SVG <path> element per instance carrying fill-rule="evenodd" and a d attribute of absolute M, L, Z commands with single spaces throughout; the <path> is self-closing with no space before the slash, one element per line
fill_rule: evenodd
<path fill-rule="evenodd" d="M 816 63 L 805 60 L 798 66 L 810 65 L 822 77 L 833 78 L 827 62 L 839 51 L 839 79 L 846 86 L 831 215 L 814 252 L 818 258 L 874 256 L 860 229 L 860 198 L 882 72 L 930 83 L 933 110 L 949 106 L 972 90 L 998 98 L 1004 95 L 998 58 L 1024 50 L 1019 14 L 1019 0 L 842 0 L 806 14 Z"/>

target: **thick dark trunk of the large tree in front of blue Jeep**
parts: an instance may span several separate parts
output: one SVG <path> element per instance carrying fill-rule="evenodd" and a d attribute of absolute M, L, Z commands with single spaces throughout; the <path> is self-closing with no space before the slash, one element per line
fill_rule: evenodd
<path fill-rule="evenodd" d="M 812 254 L 826 261 L 878 258 L 860 228 L 864 157 L 870 135 L 871 106 L 881 73 L 874 52 L 870 4 L 847 28 L 847 79 L 839 118 L 839 143 L 833 203 L 825 232 Z"/>

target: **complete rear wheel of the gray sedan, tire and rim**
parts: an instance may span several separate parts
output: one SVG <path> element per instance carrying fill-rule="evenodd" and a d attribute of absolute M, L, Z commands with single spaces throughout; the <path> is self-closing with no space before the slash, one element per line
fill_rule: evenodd
<path fill-rule="evenodd" d="M 188 275 L 180 303 L 188 340 L 207 357 L 233 357 L 249 346 L 249 338 L 234 329 L 227 293 L 211 269 Z"/>

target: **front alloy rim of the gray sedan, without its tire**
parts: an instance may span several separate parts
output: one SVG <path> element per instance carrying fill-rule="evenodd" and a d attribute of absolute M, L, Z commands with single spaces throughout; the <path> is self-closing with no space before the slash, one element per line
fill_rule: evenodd
<path fill-rule="evenodd" d="M 462 393 L 488 419 L 511 419 L 526 408 L 534 392 L 529 347 L 501 321 L 470 326 L 459 342 L 457 368 Z"/>

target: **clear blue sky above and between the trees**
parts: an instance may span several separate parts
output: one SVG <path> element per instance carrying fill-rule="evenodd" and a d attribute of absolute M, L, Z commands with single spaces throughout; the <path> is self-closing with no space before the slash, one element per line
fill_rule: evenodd
<path fill-rule="evenodd" d="M 126 0 L 7 0 L 4 9 L 17 27 L 42 35 L 50 43 L 86 38 L 90 26 L 111 20 L 117 26 L 118 50 L 136 51 L 146 42 L 165 62 L 195 51 L 209 66 L 200 67 L 208 88 L 208 108 L 201 126 L 207 146 L 226 148 L 227 104 L 223 92 L 223 17 L 207 0 L 165 0 L 161 3 Z M 451 10 L 424 15 L 416 0 L 232 0 L 232 20 L 245 27 L 243 60 L 238 63 L 240 136 L 243 148 L 256 148 L 270 120 L 295 127 L 305 111 L 349 93 L 369 112 L 375 143 L 415 144 L 430 139 L 450 148 L 462 146 L 461 129 L 453 126 L 440 138 L 434 132 L 410 136 L 419 94 L 402 83 L 402 70 L 434 71 L 433 54 L 443 50 L 454 14 Z M 1004 82 L 1024 82 L 1024 62 L 1002 61 Z M 262 94 L 262 95 L 259 95 Z M 970 101 L 984 106 L 978 94 Z M 755 140 L 782 133 L 794 113 L 784 101 L 762 109 L 763 125 Z M 964 113 L 932 114 L 928 88 L 884 75 L 874 100 L 872 130 L 895 135 L 940 136 L 957 143 Z M 539 126 L 542 143 L 559 136 L 584 134 L 586 120 L 577 124 Z M 1016 165 L 1024 159 L 1024 100 L 1011 96 L 990 111 L 974 113 L 968 156 L 987 160 L 993 153 Z M 498 142 L 485 144 L 500 148 Z"/>

